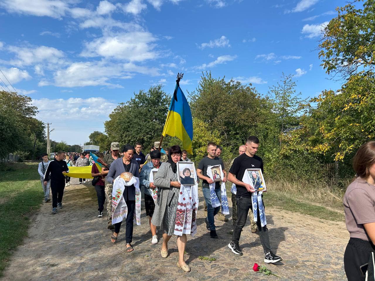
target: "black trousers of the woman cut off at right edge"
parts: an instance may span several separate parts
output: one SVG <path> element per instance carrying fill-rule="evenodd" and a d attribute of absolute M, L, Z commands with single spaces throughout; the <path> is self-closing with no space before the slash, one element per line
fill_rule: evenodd
<path fill-rule="evenodd" d="M 344 269 L 348 281 L 365 281 L 360 266 L 369 263 L 371 252 L 375 252 L 374 244 L 359 238 L 350 238 L 344 253 Z"/>

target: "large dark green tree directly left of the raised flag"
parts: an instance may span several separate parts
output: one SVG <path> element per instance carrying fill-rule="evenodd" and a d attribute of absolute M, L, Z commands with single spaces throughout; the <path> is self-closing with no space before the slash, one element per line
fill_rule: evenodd
<path fill-rule="evenodd" d="M 163 131 L 170 97 L 162 90 L 162 85 L 150 87 L 126 103 L 120 103 L 104 123 L 108 138 L 122 144 L 137 141 L 147 148 Z"/>

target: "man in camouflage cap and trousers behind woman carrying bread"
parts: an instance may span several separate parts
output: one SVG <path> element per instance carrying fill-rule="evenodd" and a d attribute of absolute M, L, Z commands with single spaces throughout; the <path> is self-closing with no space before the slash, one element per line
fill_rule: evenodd
<path fill-rule="evenodd" d="M 107 154 L 104 156 L 103 161 L 106 164 L 112 164 L 114 160 L 117 158 L 121 157 L 118 154 L 118 150 L 120 149 L 120 144 L 118 142 L 112 142 L 111 143 L 111 153 Z M 107 176 L 108 170 L 104 170 L 105 166 L 103 165 L 102 167 L 102 175 Z M 108 229 L 114 229 L 114 226 L 112 225 L 112 188 L 113 184 L 110 184 L 106 181 L 105 182 L 105 187 L 104 187 L 104 192 L 105 192 L 105 197 L 107 198 L 107 228 Z"/>

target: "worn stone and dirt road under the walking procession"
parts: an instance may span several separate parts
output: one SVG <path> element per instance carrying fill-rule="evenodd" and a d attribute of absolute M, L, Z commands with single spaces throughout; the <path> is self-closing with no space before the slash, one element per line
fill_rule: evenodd
<path fill-rule="evenodd" d="M 71 183 L 78 183 L 78 179 L 72 178 Z M 202 193 L 199 200 L 203 200 Z M 244 255 L 235 256 L 227 246 L 232 221 L 217 221 L 219 239 L 211 239 L 202 205 L 198 233 L 187 238 L 186 259 L 192 271 L 185 273 L 176 266 L 175 237 L 169 241 L 166 259 L 160 256 L 161 243 L 151 244 L 144 207 L 141 226 L 134 226 L 134 251 L 126 253 L 125 228 L 112 244 L 105 216 L 97 217 L 98 203 L 91 183 L 71 185 L 65 188 L 63 209 L 58 214 L 51 214 L 51 203 L 43 203 L 28 238 L 13 254 L 1 280 L 345 280 L 343 256 L 349 235 L 344 223 L 267 208 L 271 246 L 284 259 L 281 265 L 267 265 L 281 278 L 267 277 L 252 270 L 255 262 L 264 265 L 264 254 L 259 236 L 250 232 L 248 223 L 240 239 Z M 200 260 L 199 256 L 216 261 Z"/>

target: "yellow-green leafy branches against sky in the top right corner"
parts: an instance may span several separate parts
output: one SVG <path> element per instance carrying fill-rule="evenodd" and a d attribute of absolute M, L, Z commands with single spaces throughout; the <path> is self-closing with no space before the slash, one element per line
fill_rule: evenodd
<path fill-rule="evenodd" d="M 363 8 L 358 9 L 358 3 Z M 375 1 L 354 0 L 338 7 L 338 16 L 324 28 L 319 57 L 327 73 L 347 79 L 375 67 Z"/>

